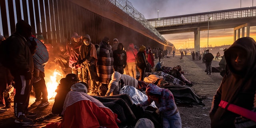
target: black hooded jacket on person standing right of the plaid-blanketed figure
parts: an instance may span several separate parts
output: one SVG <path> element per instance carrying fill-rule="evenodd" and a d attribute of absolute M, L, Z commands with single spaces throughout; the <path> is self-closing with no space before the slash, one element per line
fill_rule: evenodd
<path fill-rule="evenodd" d="M 122 46 L 122 48 L 120 48 Z M 114 50 L 113 57 L 114 57 L 114 66 L 123 66 L 126 65 L 127 55 L 126 52 L 123 50 L 124 46 L 122 43 L 119 43 L 117 46 L 117 50 Z"/>

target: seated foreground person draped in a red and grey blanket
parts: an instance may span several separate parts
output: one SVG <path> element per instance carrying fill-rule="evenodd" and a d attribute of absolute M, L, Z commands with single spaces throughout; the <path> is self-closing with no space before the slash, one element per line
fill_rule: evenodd
<path fill-rule="evenodd" d="M 88 95 L 84 84 L 71 86 L 64 102 L 62 122 L 47 124 L 45 128 L 118 128 L 117 115 Z"/>

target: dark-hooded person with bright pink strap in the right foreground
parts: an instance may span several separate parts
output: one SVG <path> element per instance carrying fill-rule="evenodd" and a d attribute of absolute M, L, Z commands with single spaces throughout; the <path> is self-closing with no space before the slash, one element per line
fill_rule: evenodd
<path fill-rule="evenodd" d="M 224 52 L 229 72 L 212 100 L 209 114 L 212 128 L 235 128 L 236 125 L 249 128 L 246 127 L 249 122 L 254 124 L 250 128 L 255 128 L 255 55 L 256 42 L 250 37 L 239 38 Z"/>

